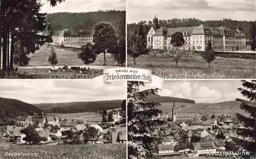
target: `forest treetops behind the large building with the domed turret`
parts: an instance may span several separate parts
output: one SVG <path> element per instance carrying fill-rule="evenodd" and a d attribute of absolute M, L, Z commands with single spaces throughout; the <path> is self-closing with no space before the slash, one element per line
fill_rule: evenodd
<path fill-rule="evenodd" d="M 245 33 L 246 39 L 254 39 L 255 38 L 255 21 L 241 21 L 241 20 L 232 20 L 223 18 L 222 20 L 200 20 L 196 18 L 173 18 L 173 19 L 163 19 L 159 20 L 158 26 L 159 28 L 164 26 L 167 28 L 178 28 L 178 27 L 195 27 L 204 24 L 209 27 L 221 27 L 226 26 L 232 30 L 242 30 Z M 139 25 L 143 25 L 145 33 L 150 30 L 152 26 L 152 21 L 140 21 L 137 24 L 128 24 L 127 32 L 130 32 L 134 29 L 138 30 Z M 254 37 L 254 38 L 253 38 Z"/>

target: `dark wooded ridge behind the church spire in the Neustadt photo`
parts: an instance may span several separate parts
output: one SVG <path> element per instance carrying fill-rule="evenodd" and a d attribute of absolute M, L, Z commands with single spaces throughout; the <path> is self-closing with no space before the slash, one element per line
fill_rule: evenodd
<path fill-rule="evenodd" d="M 145 99 L 145 102 L 156 102 L 156 103 L 170 103 L 170 102 L 177 102 L 177 103 L 195 103 L 194 100 L 184 99 L 184 98 L 176 98 L 176 97 L 166 97 L 166 96 L 149 96 Z"/>

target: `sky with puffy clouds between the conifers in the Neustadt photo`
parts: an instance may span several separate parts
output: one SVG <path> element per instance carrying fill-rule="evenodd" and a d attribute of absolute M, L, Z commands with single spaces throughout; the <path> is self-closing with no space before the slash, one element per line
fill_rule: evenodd
<path fill-rule="evenodd" d="M 240 80 L 165 80 L 158 94 L 191 99 L 196 103 L 215 103 L 245 99 L 238 90 L 241 86 Z"/>

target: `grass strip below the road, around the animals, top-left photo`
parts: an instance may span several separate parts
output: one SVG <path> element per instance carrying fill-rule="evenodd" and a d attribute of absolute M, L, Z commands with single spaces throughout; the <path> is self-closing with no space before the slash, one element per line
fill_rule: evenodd
<path fill-rule="evenodd" d="M 103 70 L 100 69 L 90 69 L 90 74 L 74 73 L 72 70 L 49 74 L 48 71 L 47 68 L 19 69 L 19 72 L 28 74 L 25 78 L 31 79 L 92 79 L 103 74 Z"/>

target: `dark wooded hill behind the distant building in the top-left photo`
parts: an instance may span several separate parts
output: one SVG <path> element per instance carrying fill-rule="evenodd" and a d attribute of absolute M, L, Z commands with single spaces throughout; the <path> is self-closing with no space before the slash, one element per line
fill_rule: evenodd
<path fill-rule="evenodd" d="M 106 10 L 86 13 L 59 12 L 46 14 L 47 22 L 53 29 L 71 28 L 74 31 L 80 29 L 92 30 L 98 22 L 109 22 L 116 34 L 125 36 L 125 11 Z"/>

